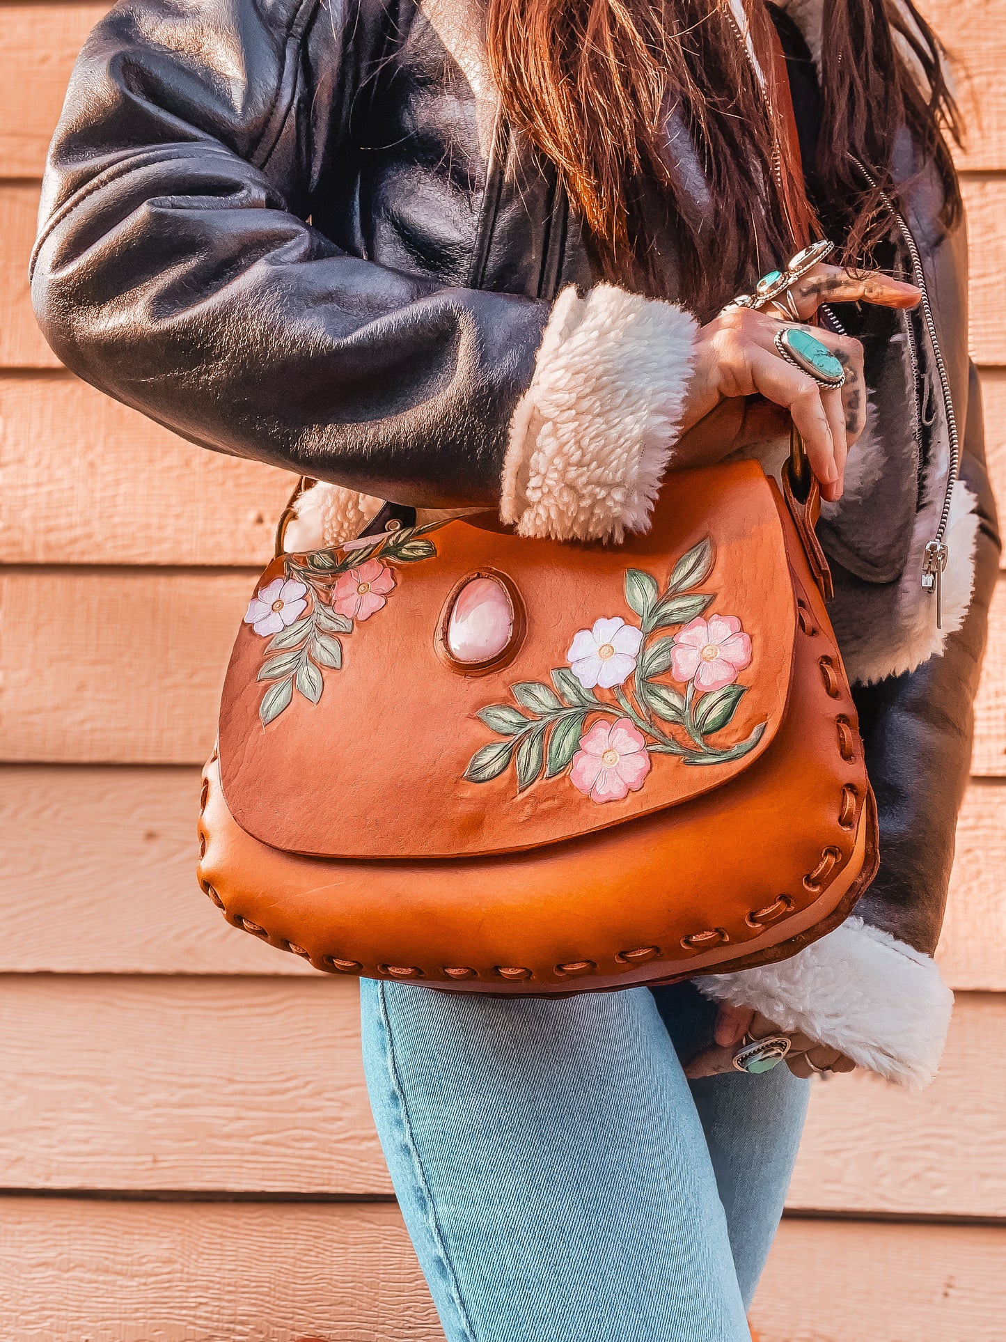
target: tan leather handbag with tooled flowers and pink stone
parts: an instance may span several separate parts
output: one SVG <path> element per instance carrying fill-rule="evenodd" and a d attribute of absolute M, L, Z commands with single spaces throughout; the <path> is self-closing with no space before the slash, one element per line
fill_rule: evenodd
<path fill-rule="evenodd" d="M 876 872 L 817 491 L 672 474 L 622 546 L 492 514 L 279 554 L 199 823 L 228 922 L 317 969 L 492 993 L 793 954 Z"/>

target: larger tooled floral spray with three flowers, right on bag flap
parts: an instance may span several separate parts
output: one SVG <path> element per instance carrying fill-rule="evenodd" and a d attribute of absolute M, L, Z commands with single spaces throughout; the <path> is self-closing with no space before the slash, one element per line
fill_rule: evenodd
<path fill-rule="evenodd" d="M 569 664 L 553 670 L 551 684 L 523 680 L 511 686 L 516 707 L 482 709 L 478 717 L 500 739 L 476 750 L 464 777 L 488 782 L 512 764 L 523 792 L 569 772 L 574 788 L 602 804 L 638 792 L 653 756 L 714 765 L 754 750 L 766 722 L 734 745 L 710 739 L 734 719 L 747 691 L 738 676 L 752 659 L 751 639 L 736 616 L 704 617 L 715 595 L 693 589 L 712 562 L 706 537 L 675 564 L 663 592 L 652 574 L 629 569 L 625 601 L 638 625 L 621 616 L 600 617 L 590 629 L 577 631 Z M 677 632 L 661 632 L 671 628 Z M 684 692 L 660 679 L 668 671 Z"/>

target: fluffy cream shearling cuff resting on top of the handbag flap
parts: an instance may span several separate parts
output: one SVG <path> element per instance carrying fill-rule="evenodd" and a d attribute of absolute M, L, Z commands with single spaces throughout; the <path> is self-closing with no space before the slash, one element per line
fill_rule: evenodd
<path fill-rule="evenodd" d="M 500 517 L 519 535 L 647 531 L 684 412 L 697 322 L 660 299 L 566 289 L 510 424 Z"/>

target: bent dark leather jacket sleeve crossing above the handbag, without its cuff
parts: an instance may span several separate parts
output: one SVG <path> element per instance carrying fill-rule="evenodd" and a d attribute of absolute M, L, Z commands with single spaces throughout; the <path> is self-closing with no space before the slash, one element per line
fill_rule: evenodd
<path fill-rule="evenodd" d="M 365 3 L 318 11 L 337 109 L 380 48 Z M 315 9 L 127 0 L 95 28 L 46 173 L 39 323 L 80 377 L 205 447 L 398 503 L 494 503 L 549 303 L 381 267 L 306 221 Z"/>

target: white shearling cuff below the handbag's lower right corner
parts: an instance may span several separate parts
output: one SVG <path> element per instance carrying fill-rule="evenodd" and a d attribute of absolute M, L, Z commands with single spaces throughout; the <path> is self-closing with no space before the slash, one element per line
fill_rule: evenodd
<path fill-rule="evenodd" d="M 936 1075 L 954 1008 L 931 956 L 856 915 L 790 960 L 707 974 L 695 985 L 714 1001 L 762 1012 L 779 1029 L 802 1031 L 908 1090 L 921 1090 Z"/>

